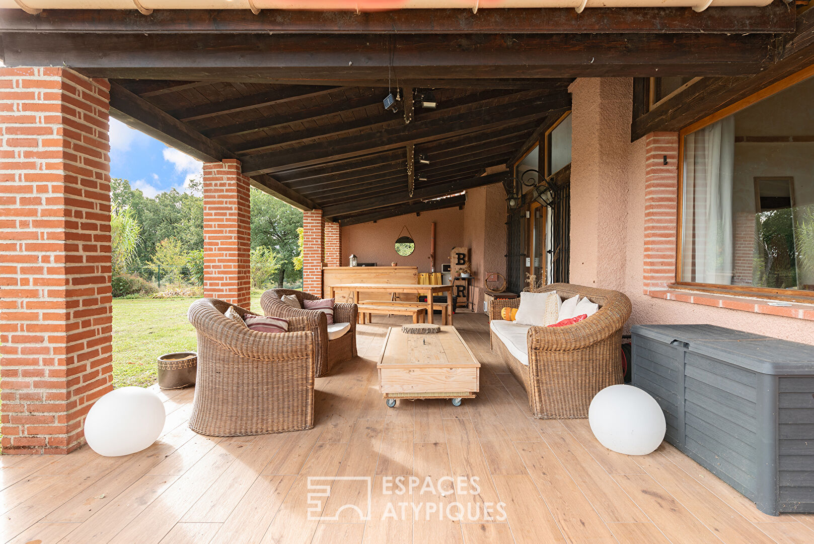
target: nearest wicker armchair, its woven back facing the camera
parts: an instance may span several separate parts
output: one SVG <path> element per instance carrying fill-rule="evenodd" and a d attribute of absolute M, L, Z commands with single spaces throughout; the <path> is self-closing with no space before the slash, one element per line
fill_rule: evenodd
<path fill-rule="evenodd" d="M 198 331 L 198 376 L 190 428 L 239 437 L 313 427 L 314 342 L 304 318 L 293 332 L 251 331 L 227 318 L 230 303 L 195 301 L 188 318 Z M 234 307 L 241 316 L 256 315 Z"/>

